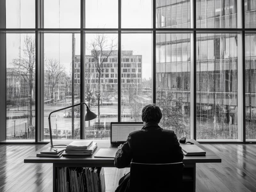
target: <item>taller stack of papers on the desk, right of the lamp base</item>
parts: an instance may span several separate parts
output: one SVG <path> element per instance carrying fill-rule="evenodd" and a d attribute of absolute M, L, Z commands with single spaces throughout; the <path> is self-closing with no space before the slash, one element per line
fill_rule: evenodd
<path fill-rule="evenodd" d="M 63 155 L 92 155 L 97 149 L 97 143 L 92 140 L 75 140 L 67 145 Z"/>

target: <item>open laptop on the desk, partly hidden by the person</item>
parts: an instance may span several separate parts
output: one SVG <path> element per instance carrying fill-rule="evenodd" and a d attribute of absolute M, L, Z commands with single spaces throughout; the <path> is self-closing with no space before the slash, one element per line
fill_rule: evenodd
<path fill-rule="evenodd" d="M 111 122 L 110 123 L 110 148 L 124 144 L 129 133 L 141 130 L 143 122 Z"/>

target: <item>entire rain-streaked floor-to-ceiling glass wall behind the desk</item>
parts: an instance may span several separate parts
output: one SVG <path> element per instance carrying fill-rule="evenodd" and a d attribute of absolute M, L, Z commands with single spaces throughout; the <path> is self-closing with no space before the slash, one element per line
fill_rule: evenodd
<path fill-rule="evenodd" d="M 6 22 L 0 18 L 6 34 L 6 138 L 37 140 L 40 109 L 44 123 L 38 126 L 49 139 L 49 113 L 84 99 L 98 117 L 81 127 L 80 107 L 53 114 L 54 139 L 82 139 L 81 131 L 86 139 L 109 139 L 110 122 L 141 121 L 148 103 L 161 107 L 160 125 L 179 138 L 191 138 L 195 129 L 194 138 L 201 140 L 239 140 L 243 131 L 246 139 L 256 139 L 255 1 L 156 0 L 153 11 L 150 2 L 44 0 L 40 7 L 34 0 L 6 0 Z M 240 21 L 244 28 L 238 28 Z M 36 71 L 36 56 L 44 71 Z M 44 81 L 41 108 L 36 74 Z M 239 82 L 243 75 L 245 82 Z"/>

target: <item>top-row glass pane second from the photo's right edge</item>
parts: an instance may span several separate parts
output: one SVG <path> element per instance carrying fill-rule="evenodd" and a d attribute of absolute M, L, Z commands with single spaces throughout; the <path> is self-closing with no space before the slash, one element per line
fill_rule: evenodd
<path fill-rule="evenodd" d="M 197 28 L 236 28 L 236 0 L 196 0 Z"/>

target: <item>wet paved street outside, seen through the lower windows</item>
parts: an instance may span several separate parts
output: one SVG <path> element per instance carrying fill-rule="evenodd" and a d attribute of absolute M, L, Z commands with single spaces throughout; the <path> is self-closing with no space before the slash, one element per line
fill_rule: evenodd
<path fill-rule="evenodd" d="M 49 113 L 53 110 L 60 109 L 60 106 L 45 106 L 44 107 L 44 128 L 49 128 L 48 123 L 48 116 Z M 33 107 L 33 116 L 35 115 L 35 108 Z M 20 107 L 19 110 L 17 108 L 12 108 L 10 111 L 6 112 L 7 117 L 12 116 L 19 116 L 19 115 L 26 115 L 28 114 L 28 108 L 26 107 Z M 63 110 L 55 112 L 51 115 L 51 125 L 52 130 L 57 129 L 58 130 L 71 130 L 72 127 L 72 120 L 71 118 L 64 118 L 65 113 L 68 115 L 68 112 L 70 112 L 71 109 Z M 98 114 L 98 107 L 94 106 L 91 107 L 91 111 Z M 129 107 L 125 106 L 123 110 L 123 115 L 126 115 L 128 117 L 122 118 L 122 121 L 131 121 L 131 118 L 129 117 Z M 100 122 L 115 122 L 117 121 L 117 106 L 104 106 L 100 107 Z M 84 118 L 84 117 L 83 117 Z M 28 126 L 28 118 L 16 118 L 16 119 L 7 119 L 6 120 L 6 137 L 13 137 L 14 135 L 14 120 L 15 120 L 15 132 L 16 137 L 21 136 L 25 134 L 25 127 Z M 132 119 L 133 120 L 133 119 Z M 92 126 L 95 122 L 98 122 L 98 117 L 90 121 L 90 125 Z M 35 117 L 32 119 L 32 124 L 35 125 Z M 79 128 L 80 127 L 80 118 L 74 119 L 74 127 Z M 88 126 L 88 122 L 85 122 L 85 126 Z M 28 131 L 26 129 L 26 131 Z"/>

